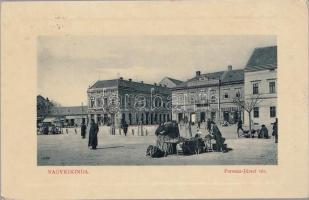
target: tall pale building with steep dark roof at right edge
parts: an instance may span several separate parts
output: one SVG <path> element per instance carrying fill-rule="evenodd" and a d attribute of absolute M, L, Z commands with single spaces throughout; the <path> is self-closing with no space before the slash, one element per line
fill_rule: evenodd
<path fill-rule="evenodd" d="M 277 117 L 277 46 L 256 48 L 245 67 L 246 101 L 259 98 L 253 108 L 253 125 L 270 126 Z M 245 115 L 249 124 L 249 115 Z"/>

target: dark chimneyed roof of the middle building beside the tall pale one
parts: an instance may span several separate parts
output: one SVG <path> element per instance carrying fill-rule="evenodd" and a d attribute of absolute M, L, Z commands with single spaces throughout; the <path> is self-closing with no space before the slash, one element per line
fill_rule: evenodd
<path fill-rule="evenodd" d="M 195 76 L 188 81 L 177 85 L 173 89 L 218 85 L 219 80 L 223 85 L 242 83 L 244 81 L 244 70 L 237 69 L 201 74 L 200 76 Z"/>

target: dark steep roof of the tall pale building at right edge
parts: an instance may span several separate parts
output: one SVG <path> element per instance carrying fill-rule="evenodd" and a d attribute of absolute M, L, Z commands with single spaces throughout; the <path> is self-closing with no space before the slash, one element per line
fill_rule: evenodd
<path fill-rule="evenodd" d="M 255 48 L 245 71 L 258 71 L 277 68 L 277 46 Z"/>

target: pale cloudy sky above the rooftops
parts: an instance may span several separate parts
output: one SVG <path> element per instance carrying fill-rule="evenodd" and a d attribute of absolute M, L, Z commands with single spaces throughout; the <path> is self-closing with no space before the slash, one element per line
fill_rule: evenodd
<path fill-rule="evenodd" d="M 40 36 L 38 94 L 62 106 L 87 104 L 97 80 L 123 77 L 158 83 L 245 67 L 253 50 L 275 36 Z"/>

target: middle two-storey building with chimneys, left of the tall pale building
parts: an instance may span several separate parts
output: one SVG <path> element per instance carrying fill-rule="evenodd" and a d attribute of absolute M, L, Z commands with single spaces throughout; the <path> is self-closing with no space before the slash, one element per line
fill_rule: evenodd
<path fill-rule="evenodd" d="M 201 74 L 171 88 L 173 119 L 203 122 L 207 119 L 221 123 L 236 123 L 243 119 L 243 110 L 233 103 L 244 96 L 244 71 L 233 70 Z"/>

